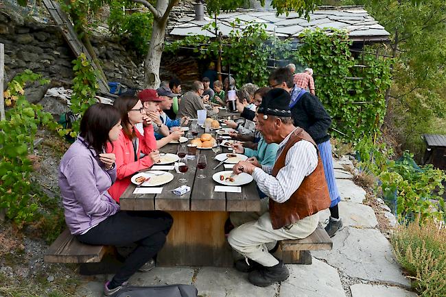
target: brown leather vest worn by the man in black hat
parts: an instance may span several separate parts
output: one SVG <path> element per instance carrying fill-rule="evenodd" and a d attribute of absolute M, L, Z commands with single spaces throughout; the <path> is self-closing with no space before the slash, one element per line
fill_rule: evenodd
<path fill-rule="evenodd" d="M 283 151 L 276 160 L 276 164 L 272 168 L 272 176 L 276 177 L 281 168 L 285 166 L 285 157 L 288 150 L 298 141 L 307 140 L 311 142 L 318 150 L 318 146 L 302 128 L 294 130 L 288 139 Z M 294 192 L 290 199 L 284 203 L 277 203 L 270 198 L 270 217 L 273 229 L 281 229 L 284 226 L 293 224 L 297 220 L 301 220 L 307 216 L 316 214 L 322 209 L 327 209 L 330 206 L 330 195 L 325 181 L 324 167 L 320 160 L 318 152 L 318 166 L 307 177 L 305 177 Z"/>

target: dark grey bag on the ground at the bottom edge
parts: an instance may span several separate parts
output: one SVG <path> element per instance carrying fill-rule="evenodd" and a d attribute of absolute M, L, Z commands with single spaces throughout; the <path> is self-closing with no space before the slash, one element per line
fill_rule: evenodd
<path fill-rule="evenodd" d="M 112 297 L 197 297 L 193 285 L 160 285 L 157 287 L 123 287 Z"/>

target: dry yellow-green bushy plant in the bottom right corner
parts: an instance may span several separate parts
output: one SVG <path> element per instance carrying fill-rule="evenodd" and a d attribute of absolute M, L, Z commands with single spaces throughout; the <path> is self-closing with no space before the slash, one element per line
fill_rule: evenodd
<path fill-rule="evenodd" d="M 397 260 L 420 296 L 446 296 L 446 229 L 429 221 L 401 225 L 391 237 Z"/>

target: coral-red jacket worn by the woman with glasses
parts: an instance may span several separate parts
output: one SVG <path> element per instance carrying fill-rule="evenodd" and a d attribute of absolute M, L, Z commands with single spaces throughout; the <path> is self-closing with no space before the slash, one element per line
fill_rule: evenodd
<path fill-rule="evenodd" d="M 144 135 L 134 129 L 139 138 L 139 147 L 137 147 L 137 161 L 134 161 L 134 151 L 132 140 L 128 139 L 124 131 L 121 130 L 119 138 L 113 142 L 113 145 L 108 143 L 106 147 L 107 153 L 114 153 L 116 155 L 116 171 L 117 178 L 115 183 L 108 189 L 108 193 L 115 201 L 119 203 L 119 197 L 130 185 L 130 178 L 134 173 L 153 165 L 152 159 L 148 156 L 151 151 L 156 150 L 156 140 L 153 132 L 153 126 L 144 127 Z M 145 154 L 143 158 L 139 158 L 139 152 Z"/>

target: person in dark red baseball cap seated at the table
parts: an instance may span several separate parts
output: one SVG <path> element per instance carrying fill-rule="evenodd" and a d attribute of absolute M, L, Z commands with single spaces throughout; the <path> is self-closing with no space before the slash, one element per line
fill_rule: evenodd
<path fill-rule="evenodd" d="M 141 103 L 143 103 L 143 109 L 145 114 L 148 115 L 149 119 L 152 120 L 152 126 L 154 128 L 154 135 L 156 139 L 156 147 L 162 148 L 167 143 L 171 142 L 172 140 L 179 140 L 181 135 L 184 134 L 183 131 L 172 131 L 170 133 L 169 127 L 163 123 L 163 120 L 161 119 L 161 107 L 160 104 L 165 101 L 164 98 L 158 96 L 156 93 L 156 90 L 154 89 L 145 89 L 138 93 L 138 98 L 141 100 Z M 137 124 L 137 127 L 141 127 L 141 123 Z M 144 131 L 139 132 L 144 135 Z"/>

